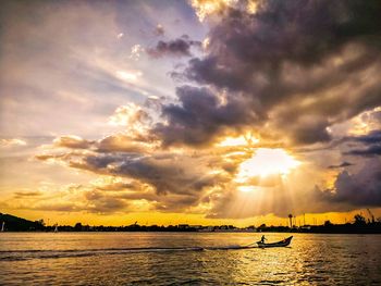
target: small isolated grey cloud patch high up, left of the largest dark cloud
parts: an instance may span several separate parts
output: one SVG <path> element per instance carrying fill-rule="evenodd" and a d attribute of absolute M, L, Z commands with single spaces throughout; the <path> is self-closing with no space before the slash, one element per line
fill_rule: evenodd
<path fill-rule="evenodd" d="M 200 47 L 200 41 L 190 40 L 188 36 L 184 35 L 181 38 L 170 41 L 158 41 L 157 46 L 147 49 L 147 53 L 153 58 L 161 58 L 164 55 L 172 57 L 190 57 L 192 47 Z"/>

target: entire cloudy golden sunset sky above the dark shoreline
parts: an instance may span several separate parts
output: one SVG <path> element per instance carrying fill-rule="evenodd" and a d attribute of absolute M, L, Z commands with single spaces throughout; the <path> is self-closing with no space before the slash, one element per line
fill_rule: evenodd
<path fill-rule="evenodd" d="M 3 1 L 0 212 L 381 216 L 381 2 Z"/>

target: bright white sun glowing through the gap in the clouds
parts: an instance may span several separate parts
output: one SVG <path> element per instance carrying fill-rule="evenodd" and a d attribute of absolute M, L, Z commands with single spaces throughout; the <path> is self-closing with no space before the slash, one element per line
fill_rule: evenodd
<path fill-rule="evenodd" d="M 244 183 L 250 177 L 287 175 L 300 164 L 283 149 L 259 148 L 256 153 L 239 165 L 237 182 Z"/>

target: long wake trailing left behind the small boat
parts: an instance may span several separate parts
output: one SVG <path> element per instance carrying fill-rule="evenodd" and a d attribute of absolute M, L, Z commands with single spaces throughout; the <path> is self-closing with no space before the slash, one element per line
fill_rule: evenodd
<path fill-rule="evenodd" d="M 128 254 L 146 252 L 174 251 L 213 251 L 257 248 L 250 246 L 221 246 L 221 247 L 138 247 L 138 248 L 100 248 L 100 249 L 65 249 L 65 250 L 0 250 L 0 261 L 23 261 L 32 259 L 78 258 L 110 254 Z"/>

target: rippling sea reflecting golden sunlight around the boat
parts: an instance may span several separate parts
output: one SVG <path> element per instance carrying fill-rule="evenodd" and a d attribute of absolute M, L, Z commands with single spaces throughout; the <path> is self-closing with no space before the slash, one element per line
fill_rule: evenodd
<path fill-rule="evenodd" d="M 0 285 L 381 285 L 381 235 L 0 233 Z"/>

